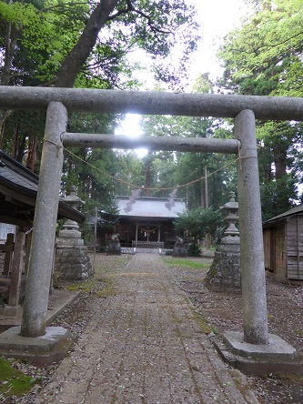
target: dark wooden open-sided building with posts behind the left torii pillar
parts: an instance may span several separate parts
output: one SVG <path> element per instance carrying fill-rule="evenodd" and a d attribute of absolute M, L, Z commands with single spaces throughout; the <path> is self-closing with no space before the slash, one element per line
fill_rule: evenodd
<path fill-rule="evenodd" d="M 8 234 L 6 242 L 0 244 L 0 253 L 5 253 L 0 268 L 0 306 L 7 301 L 10 307 L 18 306 L 23 297 L 20 291 L 25 285 L 38 180 L 35 173 L 0 150 L 0 223 L 15 225 L 15 236 Z M 62 199 L 57 217 L 79 223 L 86 218 Z"/>

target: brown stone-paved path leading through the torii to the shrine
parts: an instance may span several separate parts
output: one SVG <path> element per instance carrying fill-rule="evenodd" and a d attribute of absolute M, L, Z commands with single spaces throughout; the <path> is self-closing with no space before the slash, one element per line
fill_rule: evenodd
<path fill-rule="evenodd" d="M 35 403 L 258 402 L 234 379 L 161 258 L 137 254 Z"/>

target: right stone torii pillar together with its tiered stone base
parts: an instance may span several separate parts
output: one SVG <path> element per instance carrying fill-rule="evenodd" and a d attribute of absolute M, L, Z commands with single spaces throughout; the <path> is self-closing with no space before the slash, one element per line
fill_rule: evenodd
<path fill-rule="evenodd" d="M 240 267 L 243 332 L 227 331 L 214 344 L 223 359 L 244 373 L 302 371 L 296 349 L 268 334 L 268 310 L 264 268 L 261 202 L 255 114 L 249 109 L 235 117 L 237 193 L 240 230 Z"/>

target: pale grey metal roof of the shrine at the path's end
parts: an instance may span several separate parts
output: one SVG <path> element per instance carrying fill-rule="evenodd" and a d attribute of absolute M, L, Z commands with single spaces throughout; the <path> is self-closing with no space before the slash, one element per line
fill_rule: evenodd
<path fill-rule="evenodd" d="M 123 217 L 175 218 L 186 210 L 182 199 L 166 197 L 117 197 L 117 206 Z"/>

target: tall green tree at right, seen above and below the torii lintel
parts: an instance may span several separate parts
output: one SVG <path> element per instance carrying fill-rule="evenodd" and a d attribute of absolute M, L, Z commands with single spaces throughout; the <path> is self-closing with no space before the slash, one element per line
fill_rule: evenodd
<path fill-rule="evenodd" d="M 253 14 L 225 38 L 218 56 L 219 85 L 237 94 L 302 96 L 303 15 L 298 0 L 253 0 Z M 278 215 L 298 199 L 301 125 L 258 122 L 263 217 Z"/>

